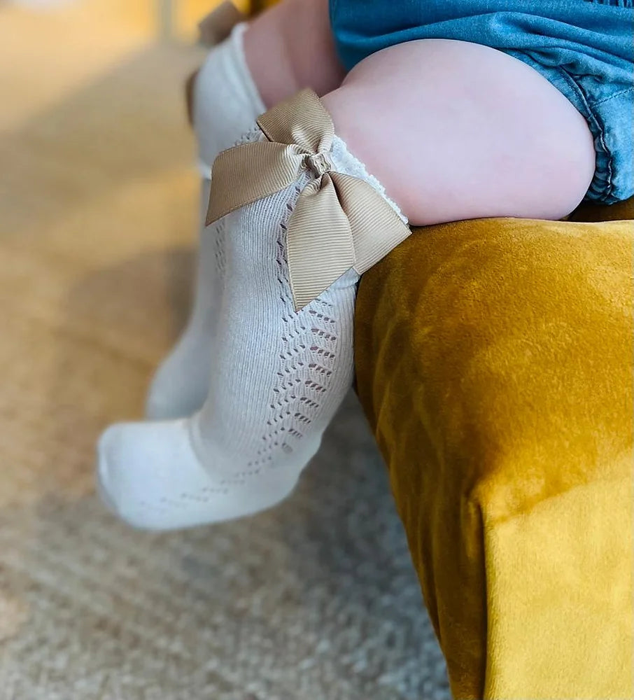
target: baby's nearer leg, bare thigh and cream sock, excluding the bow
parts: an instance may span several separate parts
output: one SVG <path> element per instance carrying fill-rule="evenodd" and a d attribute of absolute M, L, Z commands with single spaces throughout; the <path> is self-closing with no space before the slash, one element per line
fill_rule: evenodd
<path fill-rule="evenodd" d="M 396 202 L 390 206 L 416 223 L 568 213 L 592 169 L 591 139 L 577 113 L 514 59 L 423 43 L 374 55 L 324 98 L 338 137 L 322 165 L 329 160 L 332 172 L 369 183 L 376 197 L 385 195 L 381 181 Z M 452 80 L 462 91 L 447 85 Z M 533 100 L 540 110 L 530 111 Z M 528 141 L 517 120 L 530 129 Z M 253 130 L 246 140 L 266 139 Z M 323 177 L 312 170 L 315 160 L 307 163 L 288 186 L 222 220 L 227 278 L 202 410 L 180 421 L 113 426 L 101 438 L 102 491 L 136 526 L 192 526 L 273 505 L 293 489 L 351 385 L 355 269 L 300 311 L 293 304 L 287 231 L 300 191 Z M 244 176 L 265 175 L 254 168 Z M 381 248 L 380 226 L 364 233 Z"/>

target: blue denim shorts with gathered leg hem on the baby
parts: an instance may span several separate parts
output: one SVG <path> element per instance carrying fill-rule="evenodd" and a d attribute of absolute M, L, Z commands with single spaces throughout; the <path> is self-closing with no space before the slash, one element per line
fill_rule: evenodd
<path fill-rule="evenodd" d="M 330 0 L 349 70 L 424 38 L 484 44 L 532 66 L 588 121 L 596 170 L 587 200 L 634 194 L 634 0 Z"/>

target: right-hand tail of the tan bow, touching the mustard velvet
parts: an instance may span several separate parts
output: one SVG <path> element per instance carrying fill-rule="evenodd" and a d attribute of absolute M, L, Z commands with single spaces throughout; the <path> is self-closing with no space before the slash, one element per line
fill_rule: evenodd
<path fill-rule="evenodd" d="M 410 234 L 411 230 L 390 204 L 364 180 L 333 172 L 341 207 L 350 221 L 354 268 L 363 274 Z"/>

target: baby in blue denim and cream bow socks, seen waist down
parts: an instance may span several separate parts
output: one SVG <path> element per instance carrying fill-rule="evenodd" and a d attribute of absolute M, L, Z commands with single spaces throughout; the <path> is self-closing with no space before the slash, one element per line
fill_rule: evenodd
<path fill-rule="evenodd" d="M 148 421 L 101 437 L 106 503 L 162 530 L 287 496 L 352 384 L 360 273 L 408 224 L 631 197 L 633 7 L 283 0 L 238 25 L 193 85 L 194 308 Z"/>

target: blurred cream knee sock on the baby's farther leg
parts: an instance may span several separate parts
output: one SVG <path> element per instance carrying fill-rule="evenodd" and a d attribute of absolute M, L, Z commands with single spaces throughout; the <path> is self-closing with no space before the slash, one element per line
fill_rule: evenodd
<path fill-rule="evenodd" d="M 234 146 L 255 118 L 265 111 L 248 71 L 238 25 L 214 48 L 195 78 L 192 118 L 202 175 L 197 282 L 192 312 L 183 334 L 158 368 L 148 391 L 146 416 L 163 420 L 187 416 L 207 395 L 223 274 L 223 222 L 205 228 L 211 165 L 220 151 Z"/>

